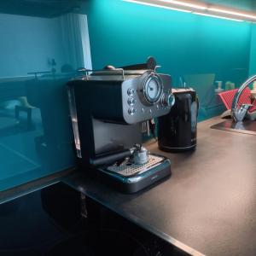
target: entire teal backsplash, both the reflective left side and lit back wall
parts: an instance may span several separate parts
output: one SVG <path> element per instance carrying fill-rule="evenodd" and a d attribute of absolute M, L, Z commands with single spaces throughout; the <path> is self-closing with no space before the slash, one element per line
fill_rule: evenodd
<path fill-rule="evenodd" d="M 75 165 L 66 89 L 74 73 L 61 73 L 61 66 L 77 69 L 83 64 L 81 26 L 74 15 L 62 12 L 49 18 L 43 14 L 45 9 L 40 14 L 40 8 L 40 17 L 29 9 L 19 15 L 19 5 L 14 6 L 15 15 L 6 15 L 1 7 L 0 191 Z M 55 9 L 49 11 L 55 13 Z M 90 0 L 81 12 L 88 15 L 96 69 L 141 63 L 153 55 L 162 66 L 160 72 L 172 75 L 174 86 L 186 74 L 214 73 L 216 80 L 236 85 L 247 78 L 249 57 L 254 53 L 253 48 L 250 51 L 251 25 L 246 22 L 120 0 Z M 251 69 L 253 65 L 251 61 Z M 55 74 L 38 79 L 27 75 L 52 68 Z M 218 114 L 222 105 L 214 94 L 213 80 L 193 85 L 201 96 L 201 119 Z M 31 109 L 30 124 L 24 111 L 19 119 L 15 117 L 15 106 Z"/>

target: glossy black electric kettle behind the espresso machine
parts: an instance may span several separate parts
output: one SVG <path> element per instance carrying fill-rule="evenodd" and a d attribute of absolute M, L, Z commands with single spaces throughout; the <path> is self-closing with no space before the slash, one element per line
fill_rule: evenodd
<path fill-rule="evenodd" d="M 158 146 L 161 150 L 183 152 L 195 149 L 199 101 L 191 88 L 173 89 L 171 112 L 158 118 Z"/>

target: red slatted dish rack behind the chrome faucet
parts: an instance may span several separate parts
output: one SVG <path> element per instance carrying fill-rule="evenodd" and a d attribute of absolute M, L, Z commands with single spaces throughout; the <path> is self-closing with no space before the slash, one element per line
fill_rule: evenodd
<path fill-rule="evenodd" d="M 220 96 L 222 102 L 224 102 L 224 105 L 227 109 L 232 108 L 232 102 L 236 95 L 236 91 L 238 89 L 234 90 L 225 90 L 223 92 L 218 93 Z M 251 102 L 251 90 L 247 87 L 243 92 L 241 93 L 241 96 L 238 101 L 238 106 L 241 107 L 241 104 L 253 104 L 251 108 L 249 108 L 248 112 L 252 113 L 256 111 L 256 99 L 253 100 L 253 103 Z"/>

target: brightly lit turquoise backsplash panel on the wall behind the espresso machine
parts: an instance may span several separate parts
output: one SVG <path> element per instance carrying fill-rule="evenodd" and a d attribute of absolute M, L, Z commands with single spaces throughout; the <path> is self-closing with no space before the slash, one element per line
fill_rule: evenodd
<path fill-rule="evenodd" d="M 198 83 L 187 81 L 198 91 L 201 119 L 224 110 L 215 95 L 216 85 L 201 75 L 215 74 L 215 80 L 238 86 L 247 78 L 251 26 L 247 22 L 220 20 L 169 9 L 119 0 L 94 0 L 84 8 L 88 13 L 90 45 L 94 68 L 107 64 L 120 67 L 145 61 L 152 55 L 172 75 L 199 74 Z M 224 86 L 223 86 L 224 87 Z"/>

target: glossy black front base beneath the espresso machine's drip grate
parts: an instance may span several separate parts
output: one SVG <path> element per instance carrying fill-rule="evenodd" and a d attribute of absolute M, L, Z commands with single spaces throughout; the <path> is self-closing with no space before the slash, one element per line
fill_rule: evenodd
<path fill-rule="evenodd" d="M 131 177 L 123 177 L 117 173 L 108 172 L 104 169 L 98 169 L 100 177 L 108 182 L 114 189 L 126 194 L 136 193 L 146 189 L 154 183 L 160 182 L 165 177 L 170 177 L 171 161 L 164 160 L 159 166 L 155 166 L 146 172 Z"/>

